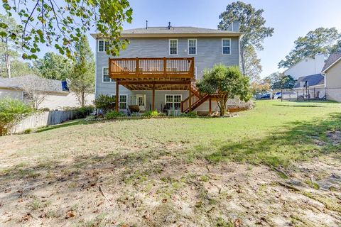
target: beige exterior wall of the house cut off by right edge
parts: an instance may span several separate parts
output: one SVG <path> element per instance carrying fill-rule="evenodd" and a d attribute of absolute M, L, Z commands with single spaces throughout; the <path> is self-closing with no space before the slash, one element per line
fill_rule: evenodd
<path fill-rule="evenodd" d="M 341 60 L 325 72 L 327 99 L 341 101 Z"/>

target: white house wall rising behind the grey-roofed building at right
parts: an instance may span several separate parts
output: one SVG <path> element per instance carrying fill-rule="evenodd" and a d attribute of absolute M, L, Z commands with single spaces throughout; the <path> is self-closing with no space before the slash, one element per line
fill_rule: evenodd
<path fill-rule="evenodd" d="M 303 60 L 285 70 L 283 74 L 291 76 L 293 79 L 298 79 L 299 77 L 321 73 L 324 65 L 325 55 L 318 53 L 315 55 L 315 59 L 305 57 Z"/>

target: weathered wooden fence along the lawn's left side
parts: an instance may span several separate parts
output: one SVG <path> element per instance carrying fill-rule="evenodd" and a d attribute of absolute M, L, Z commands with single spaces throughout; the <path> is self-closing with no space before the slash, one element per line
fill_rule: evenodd
<path fill-rule="evenodd" d="M 11 132 L 21 133 L 28 128 L 52 126 L 64 121 L 72 120 L 74 117 L 75 114 L 73 111 L 46 111 L 39 114 L 33 114 L 14 126 Z"/>

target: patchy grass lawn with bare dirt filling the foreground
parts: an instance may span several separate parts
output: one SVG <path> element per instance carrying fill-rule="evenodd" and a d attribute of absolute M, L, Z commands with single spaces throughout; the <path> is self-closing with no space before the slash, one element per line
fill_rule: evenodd
<path fill-rule="evenodd" d="M 4 136 L 0 226 L 340 226 L 340 148 L 326 102 Z"/>

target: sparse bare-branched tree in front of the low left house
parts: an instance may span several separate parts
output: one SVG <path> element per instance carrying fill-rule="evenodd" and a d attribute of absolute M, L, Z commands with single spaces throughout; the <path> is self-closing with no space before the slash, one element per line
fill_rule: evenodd
<path fill-rule="evenodd" d="M 18 77 L 18 85 L 23 89 L 23 99 L 31 102 L 33 109 L 38 109 L 39 105 L 51 94 L 55 87 L 54 81 L 36 75 Z"/>

